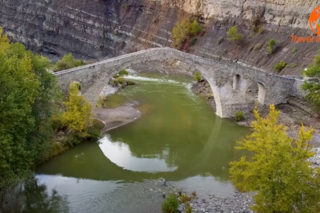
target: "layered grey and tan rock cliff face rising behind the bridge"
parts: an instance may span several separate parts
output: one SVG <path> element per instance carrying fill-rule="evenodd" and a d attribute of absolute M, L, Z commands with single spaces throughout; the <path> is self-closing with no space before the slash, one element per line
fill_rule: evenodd
<path fill-rule="evenodd" d="M 186 51 L 208 58 L 219 55 L 269 72 L 284 60 L 297 66 L 280 74 L 300 74 L 301 64 L 312 61 L 318 44 L 291 43 L 290 35 L 312 35 L 308 16 L 318 4 L 319 0 L 0 0 L 0 25 L 12 39 L 51 57 L 71 52 L 102 59 L 172 46 L 175 23 L 193 17 L 206 32 Z M 263 28 L 262 34 L 252 32 L 253 21 Z M 240 45 L 225 38 L 234 24 L 244 35 Z M 277 48 L 267 55 L 270 38 Z"/>

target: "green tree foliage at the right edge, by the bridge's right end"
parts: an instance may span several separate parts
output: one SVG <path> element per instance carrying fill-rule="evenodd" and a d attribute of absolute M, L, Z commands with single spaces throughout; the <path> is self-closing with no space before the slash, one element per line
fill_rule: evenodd
<path fill-rule="evenodd" d="M 303 71 L 303 75 L 315 77 L 314 79 L 304 81 L 301 89 L 307 93 L 305 98 L 311 101 L 314 111 L 320 114 L 320 53 L 316 55 L 314 62 Z"/>

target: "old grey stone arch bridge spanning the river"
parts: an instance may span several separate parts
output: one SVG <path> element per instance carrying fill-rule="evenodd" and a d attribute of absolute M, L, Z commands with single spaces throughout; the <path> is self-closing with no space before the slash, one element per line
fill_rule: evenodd
<path fill-rule="evenodd" d="M 62 91 L 67 90 L 70 82 L 79 82 L 81 93 L 95 106 L 103 87 L 121 69 L 148 61 L 179 61 L 189 75 L 197 70 L 209 82 L 216 103 L 216 114 L 220 117 L 232 117 L 236 110 L 252 109 L 252 98 L 246 94 L 246 89 L 252 83 L 258 84 L 260 104 L 286 103 L 289 96 L 303 96 L 299 89 L 303 82 L 301 79 L 269 74 L 216 57 L 212 60 L 167 47 L 151 48 L 55 72 L 54 75 Z"/>

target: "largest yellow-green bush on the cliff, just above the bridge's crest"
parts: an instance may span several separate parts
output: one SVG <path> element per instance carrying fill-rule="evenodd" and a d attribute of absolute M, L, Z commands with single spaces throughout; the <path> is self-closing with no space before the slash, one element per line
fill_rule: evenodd
<path fill-rule="evenodd" d="M 180 22 L 176 23 L 172 30 L 174 47 L 180 48 L 188 36 L 194 37 L 201 30 L 202 26 L 196 20 L 191 21 L 191 19 L 183 18 Z"/>

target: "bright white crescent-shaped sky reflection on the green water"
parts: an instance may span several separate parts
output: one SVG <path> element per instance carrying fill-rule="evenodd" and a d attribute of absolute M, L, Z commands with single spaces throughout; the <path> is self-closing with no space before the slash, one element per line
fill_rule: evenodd
<path fill-rule="evenodd" d="M 160 159 L 160 154 L 144 154 L 136 157 L 131 154 L 130 147 L 121 141 L 111 142 L 109 135 L 99 140 L 99 147 L 103 154 L 117 166 L 131 171 L 160 172 L 173 171 L 177 167 L 168 167 L 165 160 Z M 162 150 L 165 155 L 167 150 Z"/>

